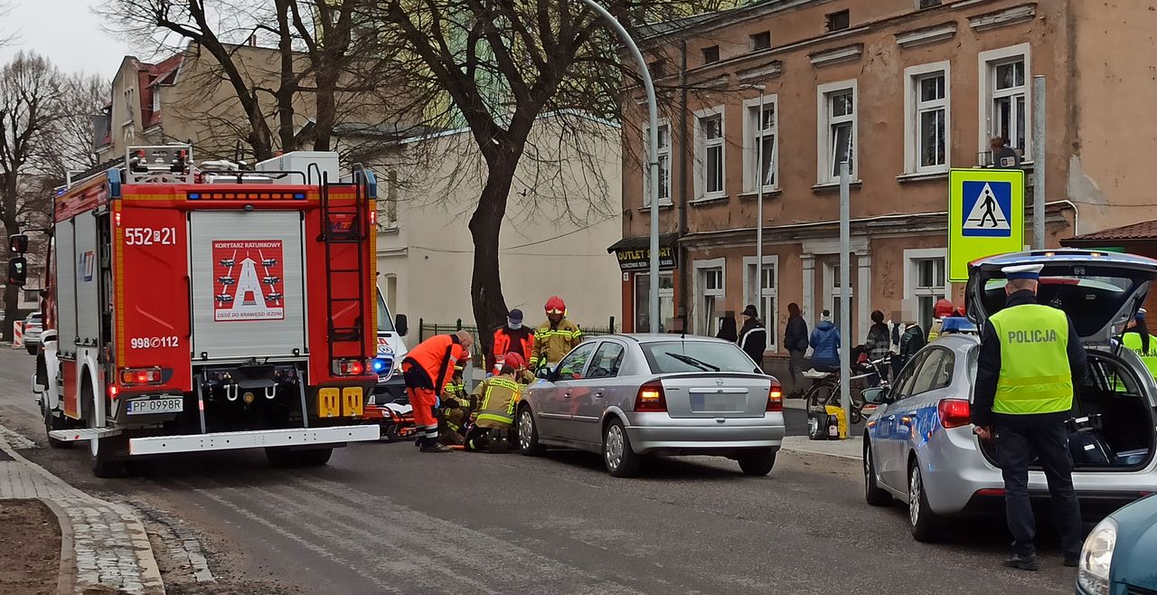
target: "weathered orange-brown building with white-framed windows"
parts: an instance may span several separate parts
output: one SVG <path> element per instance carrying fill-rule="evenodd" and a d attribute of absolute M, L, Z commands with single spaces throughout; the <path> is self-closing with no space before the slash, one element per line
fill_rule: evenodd
<path fill-rule="evenodd" d="M 1031 185 L 1033 75 L 1048 86 L 1047 244 L 1150 219 L 1157 122 L 1141 115 L 1157 80 L 1141 50 L 1154 47 L 1155 10 L 1155 0 L 768 0 L 668 23 L 646 39 L 670 87 L 659 216 L 678 264 L 664 273 L 664 318 L 714 333 L 718 316 L 754 303 L 771 354 L 786 354 L 788 303 L 809 328 L 837 309 L 838 163 L 848 159 L 854 306 L 843 335 L 862 343 L 872 310 L 891 318 L 905 303 L 927 328 L 933 302 L 961 291 L 945 280 L 949 169 L 992 164 L 992 139 L 1003 137 Z M 625 242 L 650 221 L 643 118 L 635 110 L 624 127 Z M 646 322 L 646 280 L 624 279 L 628 329 Z"/>

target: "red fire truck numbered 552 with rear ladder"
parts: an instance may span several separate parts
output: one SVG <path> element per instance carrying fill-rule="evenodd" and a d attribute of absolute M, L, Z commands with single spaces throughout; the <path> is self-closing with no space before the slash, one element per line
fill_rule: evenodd
<path fill-rule="evenodd" d="M 362 420 L 376 183 L 358 167 L 341 178 L 332 153 L 290 155 L 212 170 L 189 146 L 133 147 L 59 191 L 32 377 L 53 446 L 88 441 L 109 477 L 258 447 L 318 465 L 378 439 Z"/>

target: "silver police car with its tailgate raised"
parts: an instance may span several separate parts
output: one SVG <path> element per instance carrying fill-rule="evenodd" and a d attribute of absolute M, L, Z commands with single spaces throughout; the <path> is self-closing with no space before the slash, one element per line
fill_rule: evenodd
<path fill-rule="evenodd" d="M 1077 379 L 1070 450 L 1084 512 L 1110 509 L 1157 491 L 1157 384 L 1119 338 L 1154 279 L 1157 260 L 1085 250 L 1033 251 L 972 263 L 968 317 L 982 328 L 1004 307 L 1001 269 L 1044 265 L 1038 300 L 1064 310 L 1089 354 Z M 934 541 L 949 519 L 1000 512 L 1004 482 L 995 445 L 972 432 L 971 402 L 980 338 L 946 333 L 921 350 L 889 389 L 869 389 L 879 406 L 864 429 L 864 497 L 875 506 L 908 505 L 913 536 Z M 1034 498 L 1047 498 L 1045 475 L 1029 477 Z"/>

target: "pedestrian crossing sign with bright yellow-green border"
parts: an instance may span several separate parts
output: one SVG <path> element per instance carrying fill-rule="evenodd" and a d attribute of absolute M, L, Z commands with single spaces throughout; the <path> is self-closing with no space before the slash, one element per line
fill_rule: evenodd
<path fill-rule="evenodd" d="M 968 263 L 1024 248 L 1024 171 L 953 169 L 949 175 L 949 280 L 968 280 Z"/>

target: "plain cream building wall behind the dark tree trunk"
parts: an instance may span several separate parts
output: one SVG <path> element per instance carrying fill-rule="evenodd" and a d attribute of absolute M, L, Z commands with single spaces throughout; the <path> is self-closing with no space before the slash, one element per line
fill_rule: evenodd
<path fill-rule="evenodd" d="M 583 326 L 621 323 L 619 271 L 605 250 L 622 234 L 619 130 L 587 124 L 577 140 L 560 142 L 559 117 L 540 118 L 510 191 L 499 266 L 507 306 L 521 308 L 526 324 L 545 322 L 551 295 Z M 378 191 L 378 286 L 390 309 L 410 318 L 407 343 L 420 319 L 472 325 L 467 225 L 486 174 L 470 131 L 404 141 L 395 163 L 376 169 L 388 189 Z"/>

